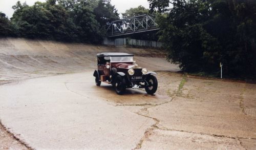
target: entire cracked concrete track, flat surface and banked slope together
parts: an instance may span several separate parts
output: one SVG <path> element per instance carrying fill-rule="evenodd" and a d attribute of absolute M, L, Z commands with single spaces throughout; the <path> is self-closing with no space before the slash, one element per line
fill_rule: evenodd
<path fill-rule="evenodd" d="M 96 87 L 95 55 L 107 51 L 134 53 L 157 71 L 156 95 Z M 255 84 L 185 76 L 163 57 L 0 39 L 0 149 L 256 149 Z"/>

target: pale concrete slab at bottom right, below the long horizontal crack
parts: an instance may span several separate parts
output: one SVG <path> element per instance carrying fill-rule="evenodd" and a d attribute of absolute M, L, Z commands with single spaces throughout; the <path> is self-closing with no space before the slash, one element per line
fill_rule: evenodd
<path fill-rule="evenodd" d="M 244 149 L 236 139 L 156 129 L 141 149 Z"/>

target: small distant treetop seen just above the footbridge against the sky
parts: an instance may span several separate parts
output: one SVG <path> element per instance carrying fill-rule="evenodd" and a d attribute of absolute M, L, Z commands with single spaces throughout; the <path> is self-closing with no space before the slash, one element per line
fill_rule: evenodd
<path fill-rule="evenodd" d="M 149 9 L 146 9 L 143 6 L 138 6 L 136 8 L 130 8 L 125 11 L 125 13 L 122 13 L 123 18 L 129 18 L 129 17 L 134 17 L 134 16 L 139 16 L 139 15 L 144 15 L 148 14 L 150 12 Z"/>

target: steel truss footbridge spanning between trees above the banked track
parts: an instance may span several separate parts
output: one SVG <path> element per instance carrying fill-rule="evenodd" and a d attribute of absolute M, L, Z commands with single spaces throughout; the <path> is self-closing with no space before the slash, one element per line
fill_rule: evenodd
<path fill-rule="evenodd" d="M 131 18 L 116 20 L 108 24 L 107 37 L 116 37 L 141 32 L 159 30 L 155 17 L 152 15 L 140 15 Z"/>

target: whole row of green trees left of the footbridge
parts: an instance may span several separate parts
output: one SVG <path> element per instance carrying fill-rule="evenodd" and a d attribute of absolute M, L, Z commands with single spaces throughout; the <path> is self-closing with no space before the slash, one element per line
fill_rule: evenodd
<path fill-rule="evenodd" d="M 47 0 L 33 6 L 18 1 L 13 9 L 11 21 L 1 13 L 3 36 L 98 43 L 103 26 L 119 18 L 110 0 Z"/>

